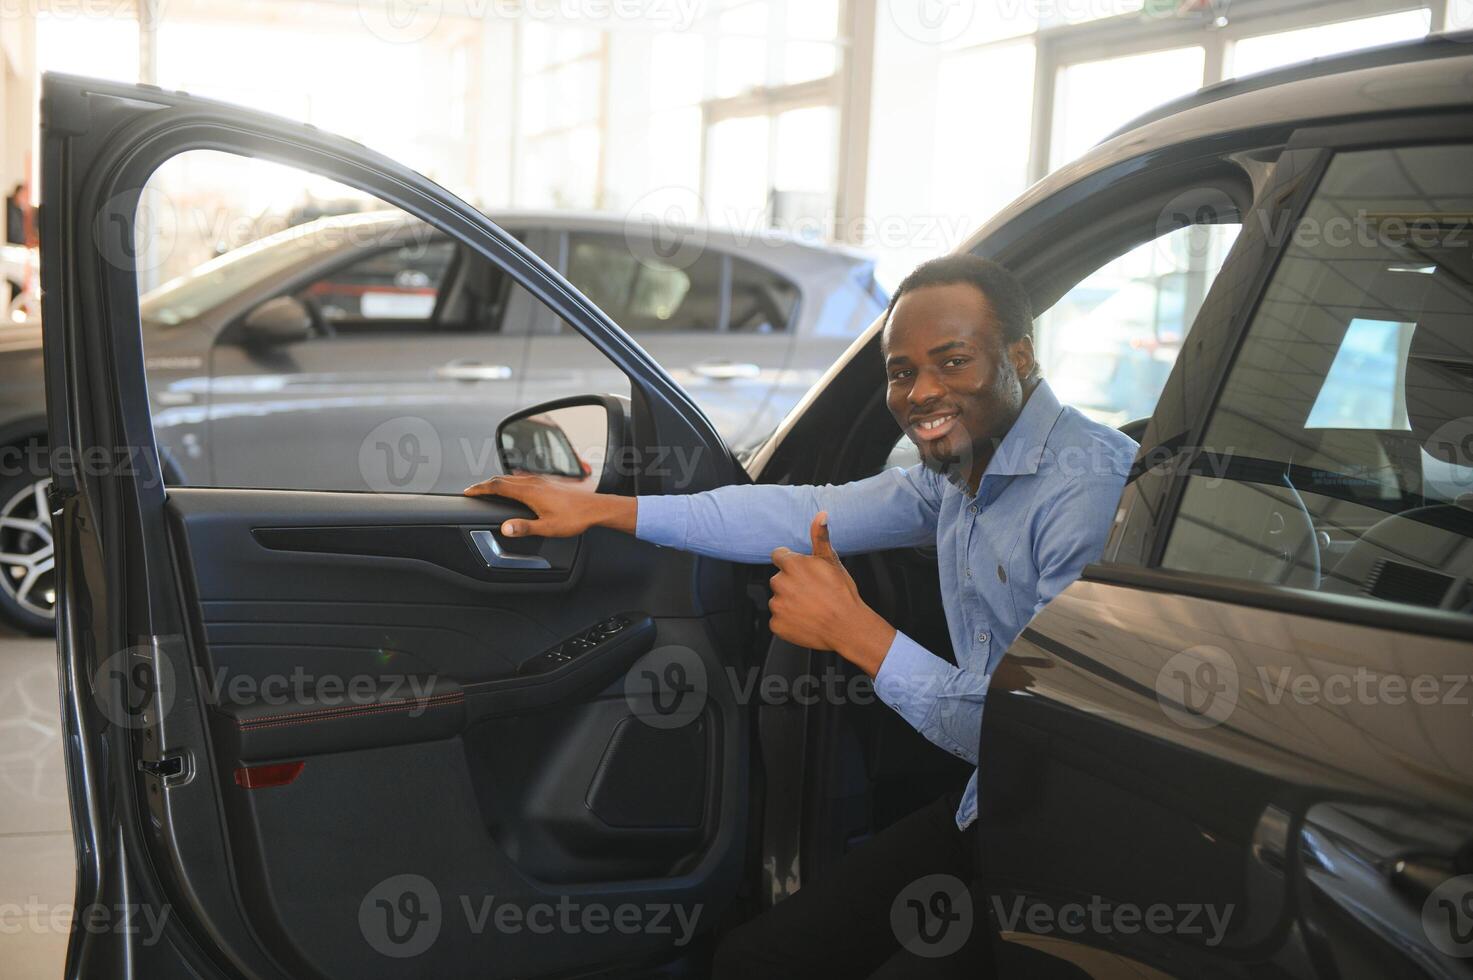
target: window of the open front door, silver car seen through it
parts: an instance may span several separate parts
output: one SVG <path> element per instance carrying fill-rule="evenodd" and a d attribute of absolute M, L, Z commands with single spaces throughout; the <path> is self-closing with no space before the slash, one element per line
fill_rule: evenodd
<path fill-rule="evenodd" d="M 153 174 L 150 200 L 138 284 L 169 283 L 141 305 L 169 311 L 144 318 L 143 345 L 171 485 L 460 494 L 499 472 L 513 413 L 629 396 L 616 364 L 498 267 L 371 195 L 189 150 Z M 545 361 L 533 323 L 557 330 Z M 560 472 L 607 448 L 604 432 L 545 429 Z"/>

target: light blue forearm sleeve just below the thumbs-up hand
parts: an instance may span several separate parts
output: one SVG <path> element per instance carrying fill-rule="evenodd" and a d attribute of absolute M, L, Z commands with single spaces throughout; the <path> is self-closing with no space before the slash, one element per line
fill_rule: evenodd
<path fill-rule="evenodd" d="M 875 694 L 929 741 L 977 765 L 990 679 L 981 671 L 963 671 L 943 660 L 896 631 L 875 675 Z"/>

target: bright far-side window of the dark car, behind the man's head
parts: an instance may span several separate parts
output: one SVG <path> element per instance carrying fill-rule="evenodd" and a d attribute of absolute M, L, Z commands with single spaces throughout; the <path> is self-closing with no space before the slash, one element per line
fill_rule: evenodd
<path fill-rule="evenodd" d="M 1093 270 L 1040 312 L 1034 349 L 1059 401 L 1109 426 L 1149 419 L 1237 231 L 1173 228 Z M 887 466 L 919 461 L 901 435 Z"/>

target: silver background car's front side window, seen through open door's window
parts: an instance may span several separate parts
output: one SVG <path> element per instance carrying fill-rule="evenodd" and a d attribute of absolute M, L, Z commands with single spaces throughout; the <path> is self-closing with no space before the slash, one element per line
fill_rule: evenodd
<path fill-rule="evenodd" d="M 323 276 L 298 296 L 336 330 L 374 321 L 427 324 L 454 258 L 455 245 L 449 240 L 411 242 Z"/>

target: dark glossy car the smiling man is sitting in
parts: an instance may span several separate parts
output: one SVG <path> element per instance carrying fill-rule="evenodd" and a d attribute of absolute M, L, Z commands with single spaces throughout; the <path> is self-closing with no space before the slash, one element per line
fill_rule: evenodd
<path fill-rule="evenodd" d="M 1454 492 L 1473 466 L 1458 427 L 1473 416 L 1467 40 L 1205 93 L 966 246 L 1044 311 L 1168 230 L 1243 224 L 1155 414 L 1130 427 L 1142 451 L 1105 559 L 1038 612 L 1009 650 L 1025 681 L 988 699 L 987 902 L 965 927 L 996 934 L 1002 976 L 1469 976 L 1473 718 L 1457 681 L 1473 656 L 1473 535 Z M 642 472 L 622 489 L 838 482 L 897 454 L 879 324 L 744 473 L 592 305 L 389 161 L 256 113 L 55 77 L 44 140 L 57 445 L 153 445 L 136 287 L 94 236 L 97 212 L 121 195 L 127 223 L 127 189 L 209 143 L 384 196 L 588 336 L 630 379 L 630 445 L 701 458 L 682 486 Z M 1340 203 L 1373 225 L 1364 242 L 1296 239 Z M 1377 345 L 1389 374 L 1361 357 Z M 1370 376 L 1386 398 L 1345 393 Z M 544 570 L 496 572 L 463 535 L 517 508 L 433 495 L 85 472 L 59 475 L 53 504 L 77 900 L 174 911 L 152 942 L 78 930 L 68 976 L 698 973 L 720 911 L 781 900 L 966 777 L 856 696 L 831 654 L 770 641 L 753 615 L 760 569 L 589 532 L 526 542 Z M 949 648 L 934 554 L 847 564 L 890 622 Z M 626 641 L 518 673 L 616 615 Z M 268 707 L 202 682 L 349 673 L 370 656 L 433 681 L 421 712 L 374 688 L 354 718 L 318 724 L 334 715 L 312 697 Z M 682 688 L 697 707 L 645 724 L 660 691 L 638 685 L 675 663 L 682 682 L 704 678 Z M 847 694 L 751 694 L 815 676 Z M 688 943 L 639 911 L 623 933 L 477 930 L 486 920 L 460 909 L 486 896 L 701 914 Z M 432 920 L 420 942 L 414 924 Z"/>

